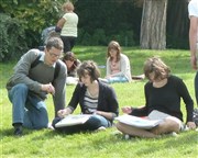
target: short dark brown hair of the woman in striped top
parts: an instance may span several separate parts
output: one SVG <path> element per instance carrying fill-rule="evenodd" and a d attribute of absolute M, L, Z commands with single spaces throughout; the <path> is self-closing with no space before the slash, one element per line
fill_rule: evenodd
<path fill-rule="evenodd" d="M 79 80 L 81 77 L 85 77 L 86 75 L 90 76 L 91 82 L 94 80 L 98 80 L 98 78 L 100 77 L 100 70 L 98 69 L 97 64 L 92 60 L 84 61 L 77 69 L 77 74 Z"/>

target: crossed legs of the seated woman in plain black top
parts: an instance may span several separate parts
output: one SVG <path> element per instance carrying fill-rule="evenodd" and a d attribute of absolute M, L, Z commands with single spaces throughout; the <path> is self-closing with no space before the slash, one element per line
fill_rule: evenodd
<path fill-rule="evenodd" d="M 157 137 L 161 134 L 167 134 L 172 132 L 178 133 L 183 126 L 182 121 L 174 116 L 167 116 L 164 119 L 164 121 L 156 127 L 147 131 L 143 128 L 133 127 L 123 123 L 117 123 L 117 128 L 122 132 L 123 134 L 128 134 L 131 136 L 138 136 L 138 137 L 147 137 L 147 138 L 154 138 Z"/>

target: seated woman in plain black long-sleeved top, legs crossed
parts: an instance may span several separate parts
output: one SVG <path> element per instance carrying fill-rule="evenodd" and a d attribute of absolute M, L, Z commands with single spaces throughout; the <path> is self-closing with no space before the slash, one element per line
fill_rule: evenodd
<path fill-rule="evenodd" d="M 125 106 L 122 108 L 122 111 L 135 116 L 147 116 L 154 110 L 160 111 L 164 113 L 157 117 L 157 120 L 162 120 L 162 123 L 152 129 L 142 129 L 119 122 L 117 128 L 123 134 L 140 137 L 157 137 L 161 134 L 179 133 L 184 129 L 180 111 L 180 99 L 183 99 L 187 111 L 186 124 L 194 129 L 196 127 L 193 122 L 194 102 L 183 80 L 170 75 L 169 68 L 158 57 L 148 58 L 145 61 L 144 74 L 150 80 L 144 87 L 145 106 Z"/>

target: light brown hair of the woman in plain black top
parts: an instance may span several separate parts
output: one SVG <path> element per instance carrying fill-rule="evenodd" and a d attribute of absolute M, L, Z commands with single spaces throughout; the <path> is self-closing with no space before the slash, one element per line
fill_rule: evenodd
<path fill-rule="evenodd" d="M 169 76 L 169 67 L 160 58 L 151 57 L 144 63 L 144 75 L 150 79 L 150 74 L 154 72 L 154 79 L 165 79 Z"/>

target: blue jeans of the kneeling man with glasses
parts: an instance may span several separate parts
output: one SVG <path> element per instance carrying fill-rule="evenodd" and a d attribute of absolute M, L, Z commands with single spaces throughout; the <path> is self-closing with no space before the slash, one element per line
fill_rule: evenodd
<path fill-rule="evenodd" d="M 24 83 L 14 86 L 9 91 L 12 102 L 12 123 L 22 123 L 24 127 L 40 129 L 47 127 L 48 114 L 46 105 L 40 98 L 30 94 Z"/>

